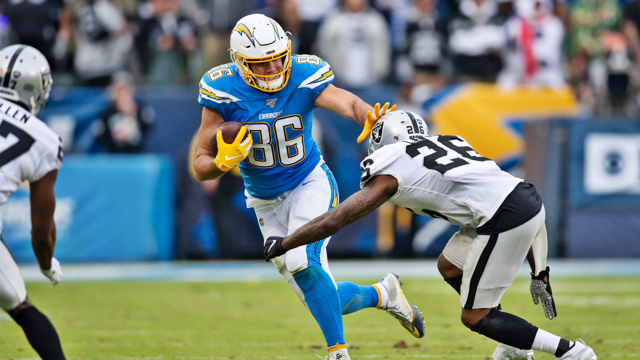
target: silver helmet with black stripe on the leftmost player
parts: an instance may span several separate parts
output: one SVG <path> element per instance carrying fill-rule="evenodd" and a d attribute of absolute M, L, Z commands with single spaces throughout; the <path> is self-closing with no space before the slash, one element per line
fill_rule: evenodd
<path fill-rule="evenodd" d="M 0 97 L 38 116 L 47 105 L 52 83 L 49 61 L 37 49 L 16 44 L 0 50 Z"/>

